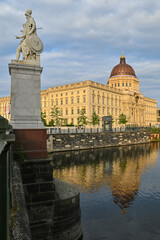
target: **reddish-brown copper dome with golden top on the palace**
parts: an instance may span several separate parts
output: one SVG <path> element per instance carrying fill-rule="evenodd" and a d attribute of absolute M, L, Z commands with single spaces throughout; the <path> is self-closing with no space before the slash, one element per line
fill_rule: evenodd
<path fill-rule="evenodd" d="M 120 57 L 120 63 L 116 65 L 111 72 L 110 77 L 117 76 L 117 75 L 131 75 L 136 77 L 134 69 L 126 63 L 125 56 L 122 54 Z"/>

